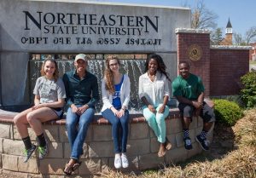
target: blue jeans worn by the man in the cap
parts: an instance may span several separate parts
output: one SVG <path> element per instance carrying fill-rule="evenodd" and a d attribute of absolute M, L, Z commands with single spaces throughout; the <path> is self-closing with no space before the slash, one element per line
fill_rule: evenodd
<path fill-rule="evenodd" d="M 78 105 L 79 107 L 79 105 Z M 87 129 L 94 118 L 95 110 L 88 108 L 82 115 L 72 112 L 71 107 L 67 109 L 66 127 L 68 141 L 71 146 L 71 157 L 79 160 L 83 153 L 83 145 Z M 79 127 L 77 128 L 77 124 Z"/>

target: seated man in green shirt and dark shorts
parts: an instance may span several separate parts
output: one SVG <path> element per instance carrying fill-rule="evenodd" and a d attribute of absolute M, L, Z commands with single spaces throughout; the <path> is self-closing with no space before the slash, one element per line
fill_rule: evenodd
<path fill-rule="evenodd" d="M 180 62 L 178 65 L 180 75 L 172 82 L 172 92 L 177 98 L 178 108 L 181 113 L 183 123 L 183 141 L 187 150 L 192 149 L 189 138 L 189 124 L 193 114 L 200 115 L 203 119 L 203 129 L 200 135 L 196 135 L 203 150 L 209 150 L 207 132 L 212 128 L 215 115 L 210 106 L 204 102 L 204 85 L 201 78 L 189 72 L 189 63 Z"/>

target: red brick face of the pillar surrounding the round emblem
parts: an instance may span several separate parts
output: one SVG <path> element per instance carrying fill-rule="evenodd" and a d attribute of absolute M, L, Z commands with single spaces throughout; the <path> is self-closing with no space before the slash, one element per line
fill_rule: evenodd
<path fill-rule="evenodd" d="M 201 60 L 189 59 L 188 49 L 191 44 L 201 46 Z M 177 33 L 177 64 L 184 60 L 189 62 L 190 72 L 202 78 L 206 89 L 205 95 L 208 96 L 210 94 L 210 36 L 208 33 Z"/>

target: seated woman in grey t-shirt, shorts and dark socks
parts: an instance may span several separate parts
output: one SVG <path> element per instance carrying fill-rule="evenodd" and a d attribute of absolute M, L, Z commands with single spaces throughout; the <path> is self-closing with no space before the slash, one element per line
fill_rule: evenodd
<path fill-rule="evenodd" d="M 61 118 L 65 104 L 66 92 L 64 84 L 59 78 L 58 66 L 55 60 L 44 60 L 42 77 L 37 79 L 33 94 L 34 106 L 20 112 L 14 118 L 15 125 L 25 145 L 24 163 L 31 158 L 37 148 L 32 144 L 28 135 L 27 123 L 37 135 L 39 159 L 45 158 L 48 153 L 48 142 L 45 139 L 42 123 Z"/>

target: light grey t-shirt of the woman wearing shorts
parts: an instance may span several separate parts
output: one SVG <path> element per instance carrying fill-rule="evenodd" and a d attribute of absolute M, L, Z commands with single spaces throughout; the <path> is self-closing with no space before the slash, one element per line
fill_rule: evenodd
<path fill-rule="evenodd" d="M 58 99 L 66 98 L 65 87 L 61 78 L 58 78 L 56 82 L 44 76 L 38 78 L 33 94 L 40 97 L 40 103 L 55 102 Z"/>

